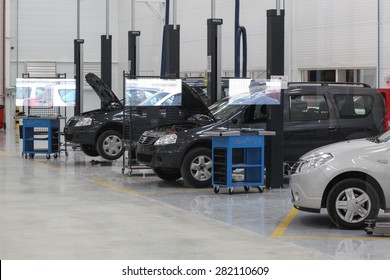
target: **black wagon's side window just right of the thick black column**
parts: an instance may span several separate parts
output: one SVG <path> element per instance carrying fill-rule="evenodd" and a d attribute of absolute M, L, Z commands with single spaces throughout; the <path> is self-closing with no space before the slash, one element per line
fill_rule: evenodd
<path fill-rule="evenodd" d="M 292 95 L 289 99 L 291 121 L 329 119 L 328 103 L 323 95 Z"/>

